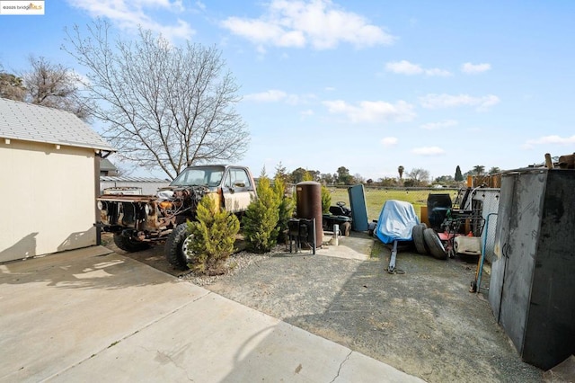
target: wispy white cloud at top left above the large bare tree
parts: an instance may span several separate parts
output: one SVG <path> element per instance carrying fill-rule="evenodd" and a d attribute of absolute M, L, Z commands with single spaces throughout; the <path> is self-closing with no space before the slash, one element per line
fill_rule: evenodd
<path fill-rule="evenodd" d="M 168 40 L 190 39 L 195 31 L 188 22 L 158 22 L 157 11 L 180 13 L 181 0 L 75 0 L 69 4 L 83 9 L 92 17 L 104 17 L 125 31 L 136 31 L 138 26 L 161 33 Z M 155 14 L 152 14 L 155 13 Z"/>

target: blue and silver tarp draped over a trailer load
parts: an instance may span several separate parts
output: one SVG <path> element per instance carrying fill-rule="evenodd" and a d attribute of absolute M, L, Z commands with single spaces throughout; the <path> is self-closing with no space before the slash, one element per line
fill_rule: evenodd
<path fill-rule="evenodd" d="M 387 200 L 377 219 L 376 236 L 384 244 L 411 241 L 411 229 L 420 224 L 413 205 L 403 200 Z"/>

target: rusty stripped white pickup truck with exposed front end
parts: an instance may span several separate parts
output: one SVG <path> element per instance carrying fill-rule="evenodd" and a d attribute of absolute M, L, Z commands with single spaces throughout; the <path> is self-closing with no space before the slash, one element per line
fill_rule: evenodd
<path fill-rule="evenodd" d="M 96 199 L 100 221 L 95 226 L 113 233 L 114 243 L 127 252 L 162 243 L 168 262 L 186 269 L 186 221 L 196 218 L 199 200 L 206 194 L 222 209 L 241 215 L 256 198 L 252 173 L 244 166 L 189 166 L 155 196 L 101 195 Z"/>

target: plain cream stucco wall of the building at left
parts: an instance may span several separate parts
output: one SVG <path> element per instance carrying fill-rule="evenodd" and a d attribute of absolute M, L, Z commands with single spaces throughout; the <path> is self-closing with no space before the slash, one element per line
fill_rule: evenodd
<path fill-rule="evenodd" d="M 0 140 L 0 262 L 96 244 L 93 149 Z"/>

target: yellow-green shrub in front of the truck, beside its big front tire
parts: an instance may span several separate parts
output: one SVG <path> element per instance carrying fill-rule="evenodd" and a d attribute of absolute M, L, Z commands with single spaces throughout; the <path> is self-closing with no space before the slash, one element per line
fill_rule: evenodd
<path fill-rule="evenodd" d="M 206 195 L 199 202 L 197 221 L 188 222 L 188 229 L 193 236 L 188 248 L 191 270 L 208 275 L 225 272 L 223 264 L 234 253 L 235 236 L 240 230 L 238 218 L 217 208 Z"/>

